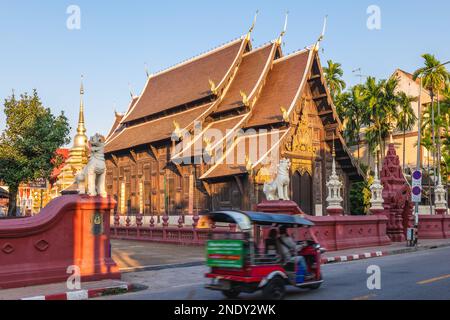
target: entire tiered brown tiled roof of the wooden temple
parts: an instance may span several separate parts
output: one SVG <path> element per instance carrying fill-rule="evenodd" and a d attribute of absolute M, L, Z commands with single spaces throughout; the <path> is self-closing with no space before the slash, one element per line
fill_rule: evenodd
<path fill-rule="evenodd" d="M 125 116 L 116 121 L 109 133 L 106 154 L 170 142 L 177 127 L 184 132 L 196 132 L 195 123 L 201 124 L 202 134 L 172 154 L 172 160 L 186 154 L 200 155 L 205 148 L 214 150 L 220 145 L 227 146 L 225 154 L 233 154 L 239 142 L 244 142 L 247 150 L 248 141 L 252 141 L 248 137 L 237 138 L 232 143 L 228 138 L 248 128 L 269 130 L 257 133 L 256 141 L 262 135 L 271 136 L 270 130 L 276 129 L 281 139 L 270 145 L 276 148 L 291 132 L 287 118 L 292 119 L 309 84 L 326 142 L 331 145 L 334 139 L 343 170 L 354 179 L 361 179 L 363 174 L 345 146 L 342 125 L 326 88 L 318 47 L 314 45 L 283 56 L 280 44 L 279 40 L 272 41 L 252 49 L 247 35 L 150 76 L 142 94 L 133 98 Z M 219 130 L 222 139 L 208 143 L 204 134 L 209 129 Z M 250 159 L 251 166 L 256 167 L 266 156 Z M 201 179 L 243 174 L 247 169 L 245 164 L 219 161 Z"/>

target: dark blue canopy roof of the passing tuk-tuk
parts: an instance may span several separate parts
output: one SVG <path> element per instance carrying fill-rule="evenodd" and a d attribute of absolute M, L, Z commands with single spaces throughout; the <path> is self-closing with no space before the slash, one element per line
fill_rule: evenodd
<path fill-rule="evenodd" d="M 251 224 L 284 225 L 284 226 L 313 226 L 314 223 L 299 215 L 278 213 L 264 213 L 253 211 L 215 211 L 208 214 L 216 222 L 236 223 L 241 230 L 248 230 Z"/>

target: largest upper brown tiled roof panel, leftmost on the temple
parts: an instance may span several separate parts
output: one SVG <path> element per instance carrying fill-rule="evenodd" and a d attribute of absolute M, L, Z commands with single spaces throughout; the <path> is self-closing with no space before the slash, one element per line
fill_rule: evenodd
<path fill-rule="evenodd" d="M 145 89 L 123 122 L 144 118 L 212 95 L 210 80 L 223 86 L 240 62 L 247 39 L 240 38 L 150 76 Z"/>

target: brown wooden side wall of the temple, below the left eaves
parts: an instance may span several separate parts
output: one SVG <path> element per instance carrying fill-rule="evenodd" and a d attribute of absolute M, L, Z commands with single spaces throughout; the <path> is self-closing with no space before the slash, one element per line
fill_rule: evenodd
<path fill-rule="evenodd" d="M 106 188 L 117 200 L 120 214 L 186 215 L 208 208 L 196 179 L 202 173 L 200 166 L 182 166 L 181 172 L 167 167 L 167 149 L 156 149 L 156 159 L 146 150 L 117 155 L 116 161 L 107 159 Z"/>

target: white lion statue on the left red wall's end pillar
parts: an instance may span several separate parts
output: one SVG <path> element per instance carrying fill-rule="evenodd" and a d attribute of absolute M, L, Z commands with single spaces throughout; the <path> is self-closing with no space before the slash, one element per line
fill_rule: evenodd
<path fill-rule="evenodd" d="M 95 136 L 91 137 L 89 145 L 91 146 L 89 161 L 83 170 L 75 177 L 75 181 L 78 185 L 78 192 L 90 196 L 100 195 L 106 197 L 105 137 L 97 133 Z"/>

